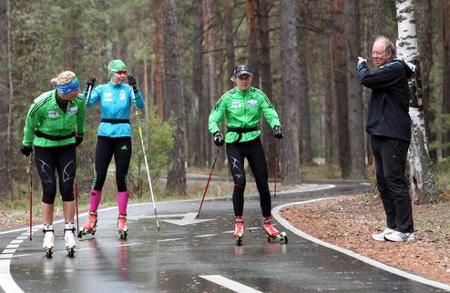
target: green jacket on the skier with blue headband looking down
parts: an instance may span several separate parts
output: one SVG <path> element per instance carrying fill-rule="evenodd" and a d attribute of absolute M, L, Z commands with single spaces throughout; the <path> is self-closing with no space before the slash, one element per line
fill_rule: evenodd
<path fill-rule="evenodd" d="M 85 132 L 86 106 L 83 95 L 69 101 L 66 113 L 56 104 L 56 90 L 48 91 L 36 97 L 26 115 L 24 139 L 26 147 L 59 147 L 75 144 L 75 136 L 62 140 L 52 140 L 35 135 L 39 131 L 49 136 L 70 136 L 73 132 L 83 135 Z M 52 137 L 53 138 L 53 137 Z"/>

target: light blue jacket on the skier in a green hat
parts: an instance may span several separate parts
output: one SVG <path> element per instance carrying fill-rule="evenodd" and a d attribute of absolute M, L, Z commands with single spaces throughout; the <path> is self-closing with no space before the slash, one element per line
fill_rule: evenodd
<path fill-rule="evenodd" d="M 129 119 L 130 107 L 133 106 L 132 88 L 128 84 L 113 84 L 109 82 L 95 87 L 87 101 L 87 107 L 100 103 L 102 119 Z M 87 91 L 85 91 L 85 95 Z M 140 91 L 135 93 L 136 104 L 139 109 L 145 105 Z M 124 137 L 131 136 L 129 123 L 101 122 L 98 126 L 98 136 Z"/>

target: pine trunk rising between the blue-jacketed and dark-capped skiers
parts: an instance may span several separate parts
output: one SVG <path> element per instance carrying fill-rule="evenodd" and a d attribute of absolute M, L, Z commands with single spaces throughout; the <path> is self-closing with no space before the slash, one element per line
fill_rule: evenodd
<path fill-rule="evenodd" d="M 173 106 L 176 129 L 174 147 L 170 152 L 170 169 L 166 185 L 168 194 L 186 195 L 184 136 L 186 129 L 183 85 L 179 68 L 178 21 L 175 0 L 164 0 L 164 63 L 170 105 Z"/>

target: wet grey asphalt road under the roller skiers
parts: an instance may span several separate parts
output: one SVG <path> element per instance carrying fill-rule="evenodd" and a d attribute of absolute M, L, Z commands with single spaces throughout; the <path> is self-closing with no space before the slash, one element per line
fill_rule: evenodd
<path fill-rule="evenodd" d="M 272 198 L 272 206 L 367 188 L 335 184 L 328 190 L 279 194 Z M 158 232 L 151 204 L 129 206 L 127 240 L 118 238 L 117 207 L 99 211 L 96 235 L 77 239 L 75 258 L 67 257 L 61 223 L 55 225 L 56 251 L 50 259 L 42 250 L 40 230 L 33 241 L 27 230 L 0 234 L 0 248 L 5 249 L 0 255 L 0 285 L 5 292 L 444 291 L 290 231 L 287 245 L 268 242 L 261 229 L 258 197 L 246 197 L 240 247 L 232 237 L 230 198 L 206 201 L 196 221 L 192 215 L 198 207 L 199 201 L 158 203 Z M 80 217 L 80 225 L 86 218 Z M 286 230 L 279 223 L 275 227 Z"/>

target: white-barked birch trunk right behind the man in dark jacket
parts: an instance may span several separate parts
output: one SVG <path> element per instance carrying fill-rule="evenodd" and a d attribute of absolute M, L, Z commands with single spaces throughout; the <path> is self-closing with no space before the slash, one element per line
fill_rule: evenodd
<path fill-rule="evenodd" d="M 396 0 L 395 8 L 398 27 L 397 57 L 420 67 L 413 0 Z M 420 95 L 422 85 L 420 84 L 420 72 L 418 70 L 415 70 L 413 80 L 410 82 L 410 88 L 413 89 L 413 100 L 409 107 L 412 137 L 408 150 L 411 197 L 414 203 L 425 204 L 437 197 L 437 189 L 431 160 L 428 155 L 424 115 L 421 110 L 422 97 Z"/>

